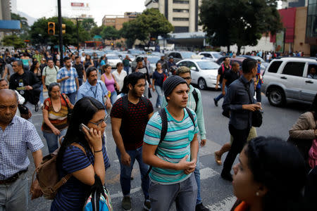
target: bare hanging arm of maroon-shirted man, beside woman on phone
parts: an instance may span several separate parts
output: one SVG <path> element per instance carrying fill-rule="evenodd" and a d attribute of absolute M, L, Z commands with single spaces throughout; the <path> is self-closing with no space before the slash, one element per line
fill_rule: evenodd
<path fill-rule="evenodd" d="M 125 146 L 123 144 L 123 139 L 120 134 L 122 119 L 111 117 L 111 127 L 112 127 L 112 135 L 113 139 L 116 142 L 116 146 L 118 147 L 121 154 L 121 162 L 123 165 L 130 166 L 131 158 L 130 155 L 125 151 Z"/>

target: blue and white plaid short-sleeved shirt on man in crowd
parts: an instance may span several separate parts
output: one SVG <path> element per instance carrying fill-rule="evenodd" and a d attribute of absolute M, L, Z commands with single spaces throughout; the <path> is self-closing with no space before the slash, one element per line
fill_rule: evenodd
<path fill-rule="evenodd" d="M 61 68 L 61 70 L 57 73 L 57 79 L 62 79 L 63 77 L 68 76 L 69 78 L 63 80 L 61 82 L 61 93 L 71 94 L 77 91 L 76 81 L 75 79 L 78 78 L 78 74 L 75 68 Z"/>

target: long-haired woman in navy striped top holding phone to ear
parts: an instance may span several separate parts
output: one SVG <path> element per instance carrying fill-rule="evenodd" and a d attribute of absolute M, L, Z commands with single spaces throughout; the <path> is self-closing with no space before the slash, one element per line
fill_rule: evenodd
<path fill-rule="evenodd" d="M 58 188 L 51 210 L 82 210 L 94 184 L 94 175 L 104 184 L 105 172 L 110 166 L 103 137 L 107 119 L 104 105 L 94 98 L 84 97 L 75 104 L 56 160 L 59 177 L 66 174 L 72 177 Z"/>

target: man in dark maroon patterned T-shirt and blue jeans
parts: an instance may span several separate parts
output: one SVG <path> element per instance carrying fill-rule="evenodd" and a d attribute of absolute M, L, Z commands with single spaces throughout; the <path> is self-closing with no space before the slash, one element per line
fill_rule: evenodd
<path fill-rule="evenodd" d="M 111 109 L 111 127 L 116 142 L 116 153 L 120 161 L 120 184 L 123 192 L 122 207 L 131 210 L 131 172 L 135 160 L 139 170 L 144 193 L 144 209 L 149 210 L 149 166 L 142 160 L 142 145 L 147 122 L 153 115 L 153 106 L 148 98 L 142 97 L 146 86 L 145 75 L 133 72 L 128 75 L 127 95 L 119 98 Z"/>

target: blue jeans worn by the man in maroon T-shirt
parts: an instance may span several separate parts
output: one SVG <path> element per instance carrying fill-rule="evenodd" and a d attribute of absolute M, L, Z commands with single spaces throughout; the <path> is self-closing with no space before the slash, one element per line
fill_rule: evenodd
<path fill-rule="evenodd" d="M 121 154 L 118 147 L 116 148 L 116 153 L 118 155 L 118 159 L 120 162 L 120 184 L 123 196 L 130 195 L 131 172 L 135 160 L 137 160 L 137 162 L 139 162 L 139 172 L 141 173 L 141 187 L 144 194 L 144 198 L 149 199 L 149 177 L 147 177 L 147 170 L 149 170 L 149 166 L 146 165 L 142 160 L 142 146 L 140 148 L 137 148 L 136 150 L 127 151 L 131 158 L 130 166 L 126 166 L 121 163 Z"/>

